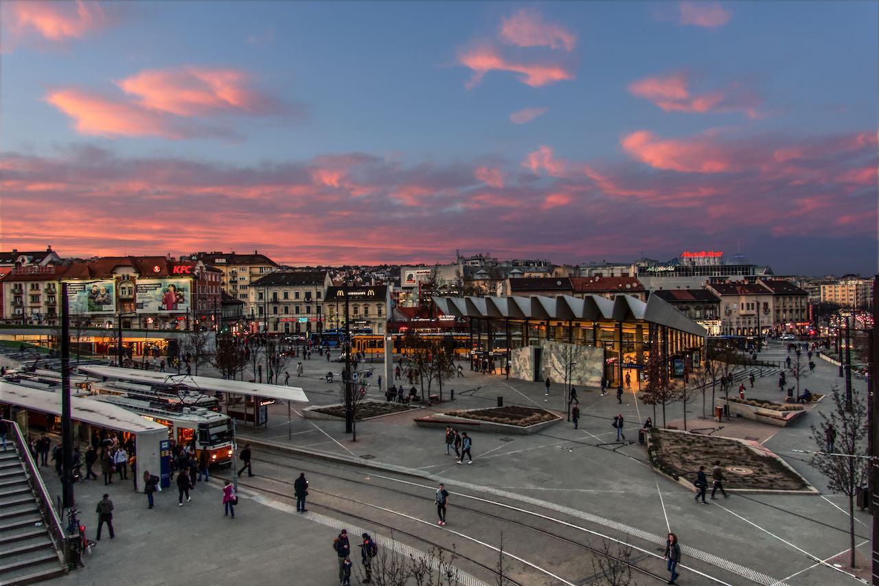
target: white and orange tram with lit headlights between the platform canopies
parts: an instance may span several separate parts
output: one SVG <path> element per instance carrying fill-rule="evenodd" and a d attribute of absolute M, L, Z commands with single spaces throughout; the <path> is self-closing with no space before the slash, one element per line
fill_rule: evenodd
<path fill-rule="evenodd" d="M 195 457 L 207 452 L 211 465 L 231 464 L 233 445 L 232 418 L 200 407 L 173 406 L 118 394 L 96 394 L 95 401 L 112 403 L 132 411 L 144 419 L 162 423 L 168 438 L 178 445 L 195 442 Z"/>

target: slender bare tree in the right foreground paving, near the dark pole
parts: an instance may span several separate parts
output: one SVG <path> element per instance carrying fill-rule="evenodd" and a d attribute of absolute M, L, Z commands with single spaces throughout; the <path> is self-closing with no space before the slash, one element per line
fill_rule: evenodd
<path fill-rule="evenodd" d="M 812 438 L 820 451 L 812 456 L 810 464 L 825 475 L 828 488 L 848 497 L 849 563 L 854 568 L 854 497 L 858 488 L 866 486 L 869 467 L 864 449 L 867 405 L 854 389 L 851 411 L 846 410 L 846 395 L 839 392 L 839 387 L 832 388 L 832 396 L 830 415 L 822 413 L 821 423 L 812 425 Z M 830 441 L 832 435 L 835 441 Z"/>

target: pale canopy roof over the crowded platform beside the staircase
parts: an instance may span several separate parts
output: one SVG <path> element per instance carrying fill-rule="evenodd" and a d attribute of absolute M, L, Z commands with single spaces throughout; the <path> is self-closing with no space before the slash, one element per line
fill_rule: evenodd
<path fill-rule="evenodd" d="M 0 402 L 61 417 L 61 399 L 61 393 L 56 391 L 22 387 L 0 380 Z M 70 416 L 78 422 L 97 425 L 108 430 L 128 433 L 150 431 L 168 433 L 168 428 L 161 423 L 149 421 L 128 409 L 83 397 L 70 397 Z"/>

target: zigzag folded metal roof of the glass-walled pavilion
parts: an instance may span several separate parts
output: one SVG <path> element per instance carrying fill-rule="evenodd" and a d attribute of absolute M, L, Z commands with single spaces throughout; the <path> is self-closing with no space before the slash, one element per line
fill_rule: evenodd
<path fill-rule="evenodd" d="M 595 294 L 584 299 L 571 295 L 545 297 L 434 297 L 434 303 L 446 315 L 482 319 L 511 320 L 643 320 L 677 329 L 694 336 L 705 337 L 708 331 L 665 300 L 655 295 L 645 303 L 631 295 L 620 293 L 613 300 Z"/>

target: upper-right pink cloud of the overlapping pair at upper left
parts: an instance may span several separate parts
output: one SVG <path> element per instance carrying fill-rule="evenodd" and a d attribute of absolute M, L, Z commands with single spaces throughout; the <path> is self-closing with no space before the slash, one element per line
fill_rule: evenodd
<path fill-rule="evenodd" d="M 118 85 L 136 96 L 140 105 L 178 116 L 278 113 L 277 102 L 249 87 L 250 83 L 249 76 L 240 70 L 187 66 L 149 69 Z"/>

